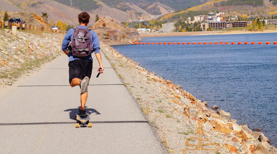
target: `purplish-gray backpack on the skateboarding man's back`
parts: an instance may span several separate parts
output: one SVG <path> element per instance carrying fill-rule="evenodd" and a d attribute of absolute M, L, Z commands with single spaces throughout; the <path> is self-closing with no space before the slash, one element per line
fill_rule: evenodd
<path fill-rule="evenodd" d="M 69 46 L 69 51 L 72 52 L 74 57 L 86 59 L 93 52 L 93 46 L 90 40 L 90 30 L 91 29 L 89 28 L 82 29 L 74 27 L 72 44 L 70 44 L 71 47 Z"/>

